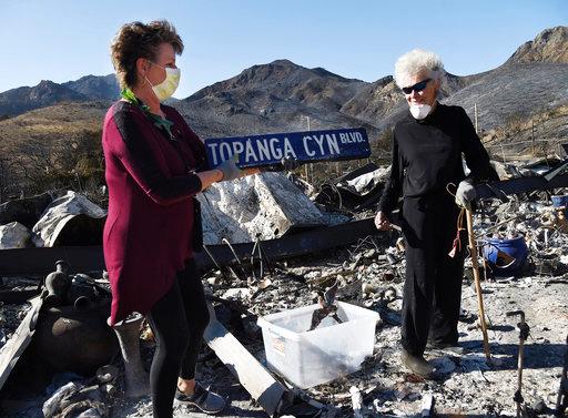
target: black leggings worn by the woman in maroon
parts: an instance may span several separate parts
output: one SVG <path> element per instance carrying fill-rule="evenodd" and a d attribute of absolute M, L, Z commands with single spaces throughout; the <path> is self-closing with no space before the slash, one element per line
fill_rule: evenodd
<path fill-rule="evenodd" d="M 178 377 L 195 377 L 203 332 L 209 324 L 203 284 L 193 258 L 178 272 L 172 288 L 155 303 L 148 320 L 156 340 L 150 369 L 153 415 L 171 418 Z"/>

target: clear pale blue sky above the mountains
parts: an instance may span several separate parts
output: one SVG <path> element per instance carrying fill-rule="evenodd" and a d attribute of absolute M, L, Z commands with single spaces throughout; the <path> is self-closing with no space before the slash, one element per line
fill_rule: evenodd
<path fill-rule="evenodd" d="M 168 19 L 185 43 L 176 98 L 288 59 L 375 81 L 424 48 L 459 75 L 500 65 L 540 31 L 568 24 L 568 0 L 0 0 L 0 92 L 113 72 L 119 27 Z"/>

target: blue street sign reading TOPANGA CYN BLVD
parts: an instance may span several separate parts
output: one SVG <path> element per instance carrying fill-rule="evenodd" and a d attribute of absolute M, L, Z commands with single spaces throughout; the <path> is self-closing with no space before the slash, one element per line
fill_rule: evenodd
<path fill-rule="evenodd" d="M 365 159 L 371 155 L 363 128 L 327 131 L 270 133 L 265 135 L 205 140 L 211 167 L 239 154 L 240 167 L 277 165 L 283 159 L 302 163 Z"/>

